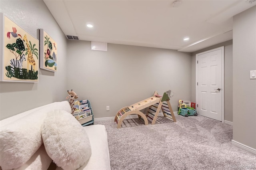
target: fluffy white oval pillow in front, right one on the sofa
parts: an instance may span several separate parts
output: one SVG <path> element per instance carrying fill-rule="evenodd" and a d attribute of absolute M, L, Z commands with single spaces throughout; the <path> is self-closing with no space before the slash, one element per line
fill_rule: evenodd
<path fill-rule="evenodd" d="M 87 163 L 91 145 L 86 131 L 74 116 L 64 110 L 48 113 L 42 125 L 47 154 L 64 170 L 76 170 Z"/>

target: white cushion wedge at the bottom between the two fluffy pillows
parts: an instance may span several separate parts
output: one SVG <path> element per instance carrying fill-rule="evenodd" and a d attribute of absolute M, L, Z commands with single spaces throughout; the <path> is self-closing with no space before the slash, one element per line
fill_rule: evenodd
<path fill-rule="evenodd" d="M 47 170 L 51 162 L 52 159 L 48 156 L 44 144 L 42 144 L 28 162 L 13 170 Z"/>

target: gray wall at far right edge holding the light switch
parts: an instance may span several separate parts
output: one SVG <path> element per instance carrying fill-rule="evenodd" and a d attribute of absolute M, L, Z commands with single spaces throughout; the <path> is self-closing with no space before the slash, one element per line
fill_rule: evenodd
<path fill-rule="evenodd" d="M 256 149 L 256 6 L 233 18 L 233 140 Z"/>

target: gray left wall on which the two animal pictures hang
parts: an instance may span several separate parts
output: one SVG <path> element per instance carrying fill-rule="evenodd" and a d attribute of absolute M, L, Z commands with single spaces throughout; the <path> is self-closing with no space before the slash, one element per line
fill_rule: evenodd
<path fill-rule="evenodd" d="M 0 82 L 0 120 L 67 96 L 67 40 L 43 1 L 0 0 L 0 12 L 39 39 L 43 28 L 58 44 L 58 72 L 39 70 L 38 83 Z M 39 66 L 38 66 L 39 67 Z"/>

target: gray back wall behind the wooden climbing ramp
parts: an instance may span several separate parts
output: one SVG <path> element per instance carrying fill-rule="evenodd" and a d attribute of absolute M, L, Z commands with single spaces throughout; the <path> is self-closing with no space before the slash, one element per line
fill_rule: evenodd
<path fill-rule="evenodd" d="M 111 43 L 108 51 L 95 51 L 91 42 L 69 41 L 68 65 L 68 89 L 90 100 L 96 118 L 114 117 L 154 91 L 171 89 L 174 111 L 179 99 L 191 100 L 190 53 Z"/>

